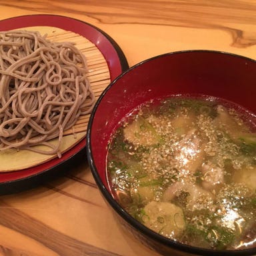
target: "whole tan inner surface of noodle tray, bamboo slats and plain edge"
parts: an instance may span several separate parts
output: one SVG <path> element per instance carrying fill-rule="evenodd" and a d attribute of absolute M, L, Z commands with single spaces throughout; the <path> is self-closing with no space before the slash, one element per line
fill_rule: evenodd
<path fill-rule="evenodd" d="M 47 39 L 55 42 L 72 42 L 84 55 L 87 62 L 87 79 L 91 85 L 91 89 L 95 95 L 95 101 L 99 98 L 103 90 L 110 83 L 110 72 L 107 61 L 103 57 L 101 51 L 91 41 L 73 33 L 65 31 L 57 27 L 24 27 L 27 31 L 39 31 L 41 35 L 47 35 Z M 19 30 L 19 29 L 18 29 Z M 71 149 L 74 145 L 85 138 L 87 125 L 90 115 L 81 115 L 75 125 L 64 132 L 63 140 L 60 146 L 60 153 L 64 153 Z M 58 139 L 51 141 L 51 145 L 57 145 Z M 37 147 L 37 146 L 35 146 Z M 43 145 L 38 146 L 42 149 Z M 43 150 L 47 151 L 45 147 Z M 20 171 L 29 167 L 45 163 L 53 159 L 57 155 L 45 155 L 33 151 L 10 149 L 0 152 L 0 173 L 9 171 Z"/>

